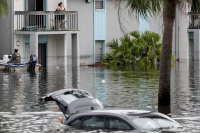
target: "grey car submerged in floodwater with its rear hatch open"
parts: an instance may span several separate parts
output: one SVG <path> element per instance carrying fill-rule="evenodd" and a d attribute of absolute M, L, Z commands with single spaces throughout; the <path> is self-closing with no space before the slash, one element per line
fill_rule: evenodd
<path fill-rule="evenodd" d="M 77 129 L 108 129 L 157 131 L 179 127 L 170 117 L 143 110 L 105 110 L 90 93 L 79 89 L 64 89 L 43 97 L 55 101 L 65 115 L 64 125 Z"/>

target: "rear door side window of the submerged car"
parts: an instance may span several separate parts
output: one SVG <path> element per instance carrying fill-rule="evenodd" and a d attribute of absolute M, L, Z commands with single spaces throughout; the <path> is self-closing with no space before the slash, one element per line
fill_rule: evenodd
<path fill-rule="evenodd" d="M 103 116 L 87 116 L 82 123 L 85 128 L 104 128 L 105 117 Z"/>

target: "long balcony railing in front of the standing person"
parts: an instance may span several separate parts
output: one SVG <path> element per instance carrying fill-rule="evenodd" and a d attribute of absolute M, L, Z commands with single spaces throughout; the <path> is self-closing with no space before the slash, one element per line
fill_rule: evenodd
<path fill-rule="evenodd" d="M 16 31 L 78 30 L 77 11 L 15 11 Z"/>

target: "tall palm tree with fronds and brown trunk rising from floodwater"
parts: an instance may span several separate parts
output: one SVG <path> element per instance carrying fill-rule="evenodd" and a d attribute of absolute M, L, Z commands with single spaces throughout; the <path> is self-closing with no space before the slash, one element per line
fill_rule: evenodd
<path fill-rule="evenodd" d="M 119 23 L 122 25 L 121 17 L 121 2 L 123 0 L 115 0 L 118 4 Z M 127 0 L 125 9 L 129 15 L 134 16 L 136 13 L 147 18 L 155 16 L 163 12 L 163 40 L 160 63 L 159 77 L 159 93 L 158 106 L 170 106 L 170 74 L 171 74 L 171 56 L 172 56 L 172 35 L 173 26 L 176 17 L 176 7 L 179 7 L 184 12 L 184 9 L 191 9 L 194 13 L 200 13 L 200 0 Z M 122 27 L 123 28 L 123 27 Z"/>

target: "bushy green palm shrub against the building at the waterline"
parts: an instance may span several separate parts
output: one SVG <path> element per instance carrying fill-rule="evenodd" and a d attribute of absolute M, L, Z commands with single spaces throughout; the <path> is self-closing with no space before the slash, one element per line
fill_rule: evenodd
<path fill-rule="evenodd" d="M 107 44 L 111 53 L 106 53 L 104 64 L 129 65 L 153 64 L 160 61 L 160 35 L 151 31 L 133 31 Z"/>

